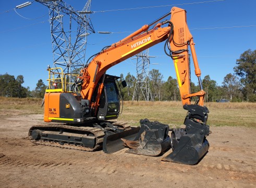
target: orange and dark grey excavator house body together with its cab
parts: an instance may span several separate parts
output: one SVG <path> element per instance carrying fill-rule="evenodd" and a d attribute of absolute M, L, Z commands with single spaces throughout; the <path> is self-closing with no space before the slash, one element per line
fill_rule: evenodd
<path fill-rule="evenodd" d="M 99 111 L 94 118 L 89 100 L 82 99 L 81 96 L 76 96 L 72 92 L 46 92 L 44 96 L 44 121 L 83 124 L 96 118 L 98 120 L 116 119 L 120 109 L 119 92 L 115 83 L 117 78 L 107 75 Z"/>

